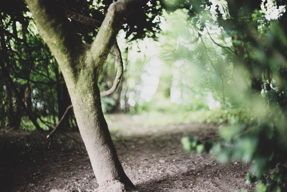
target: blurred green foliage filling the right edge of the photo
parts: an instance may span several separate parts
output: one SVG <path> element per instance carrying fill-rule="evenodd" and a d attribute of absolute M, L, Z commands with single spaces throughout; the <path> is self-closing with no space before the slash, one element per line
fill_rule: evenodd
<path fill-rule="evenodd" d="M 231 44 L 219 42 L 208 33 L 210 40 L 222 48 L 221 54 L 226 56 L 222 62 L 232 64 L 232 73 L 224 73 L 227 79 L 223 80 L 227 106 L 250 109 L 253 113 L 249 119 L 231 116 L 230 126 L 220 129 L 223 141 L 214 143 L 212 151 L 221 161 L 251 162 L 247 182 L 260 180 L 257 191 L 286 190 L 286 14 L 280 12 L 283 9 L 277 5 L 286 6 L 282 1 L 278 4 L 275 1 L 218 4 L 212 14 L 216 25 L 224 29 L 221 34 L 230 37 Z M 267 7 L 282 14 L 281 18 L 272 20 L 267 15 Z M 197 24 L 203 24 L 196 29 L 200 33 L 204 28 L 210 31 L 212 23 L 196 20 L 193 26 Z M 196 150 L 197 146 L 204 149 L 196 138 L 183 141 L 189 150 Z"/>

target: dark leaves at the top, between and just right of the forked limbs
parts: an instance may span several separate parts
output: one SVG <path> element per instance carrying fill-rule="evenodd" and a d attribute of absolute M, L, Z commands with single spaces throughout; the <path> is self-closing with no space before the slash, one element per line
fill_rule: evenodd
<path fill-rule="evenodd" d="M 112 0 L 80 0 L 80 1 L 60 1 L 62 7 L 72 12 L 91 17 L 99 22 L 104 20 L 108 7 Z M 160 31 L 158 15 L 161 14 L 162 7 L 158 1 L 152 0 L 145 8 L 144 12 L 136 12 L 127 18 L 127 23 L 122 29 L 126 33 L 126 39 L 129 41 L 143 39 L 144 37 L 157 38 Z M 80 23 L 71 20 L 77 26 L 82 39 L 86 43 L 91 43 L 97 34 L 98 29 L 95 26 Z"/>

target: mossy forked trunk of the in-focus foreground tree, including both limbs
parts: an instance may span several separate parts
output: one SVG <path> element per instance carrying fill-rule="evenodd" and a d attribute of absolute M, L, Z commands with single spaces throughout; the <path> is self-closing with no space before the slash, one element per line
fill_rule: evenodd
<path fill-rule="evenodd" d="M 134 188 L 117 157 L 101 108 L 98 72 L 129 14 L 148 0 L 118 0 L 112 3 L 90 46 L 83 45 L 56 0 L 26 0 L 43 39 L 63 73 L 79 130 L 96 179 L 100 185 L 120 181 Z"/>

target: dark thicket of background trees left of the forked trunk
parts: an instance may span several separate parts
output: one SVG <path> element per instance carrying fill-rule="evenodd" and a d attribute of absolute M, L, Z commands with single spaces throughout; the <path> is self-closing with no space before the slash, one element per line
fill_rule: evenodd
<path fill-rule="evenodd" d="M 15 9 L 9 6 L 5 4 L 0 10 L 1 128 L 31 130 L 27 117 L 38 130 L 51 128 L 70 104 L 63 76 L 25 3 L 17 3 Z M 76 126 L 73 113 L 62 125 Z"/>

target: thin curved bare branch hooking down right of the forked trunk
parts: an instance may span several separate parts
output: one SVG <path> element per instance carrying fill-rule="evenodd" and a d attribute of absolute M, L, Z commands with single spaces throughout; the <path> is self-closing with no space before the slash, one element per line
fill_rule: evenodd
<path fill-rule="evenodd" d="M 116 64 L 117 64 L 118 70 L 117 70 L 117 74 L 116 74 L 116 78 L 114 80 L 113 86 L 109 90 L 101 92 L 100 93 L 101 97 L 108 96 L 108 95 L 112 94 L 113 92 L 115 92 L 115 90 L 119 86 L 119 83 L 121 81 L 121 77 L 123 75 L 123 59 L 122 59 L 121 51 L 120 51 L 119 45 L 117 43 L 117 40 L 115 41 L 113 48 L 114 48 L 114 51 L 116 53 Z"/>

